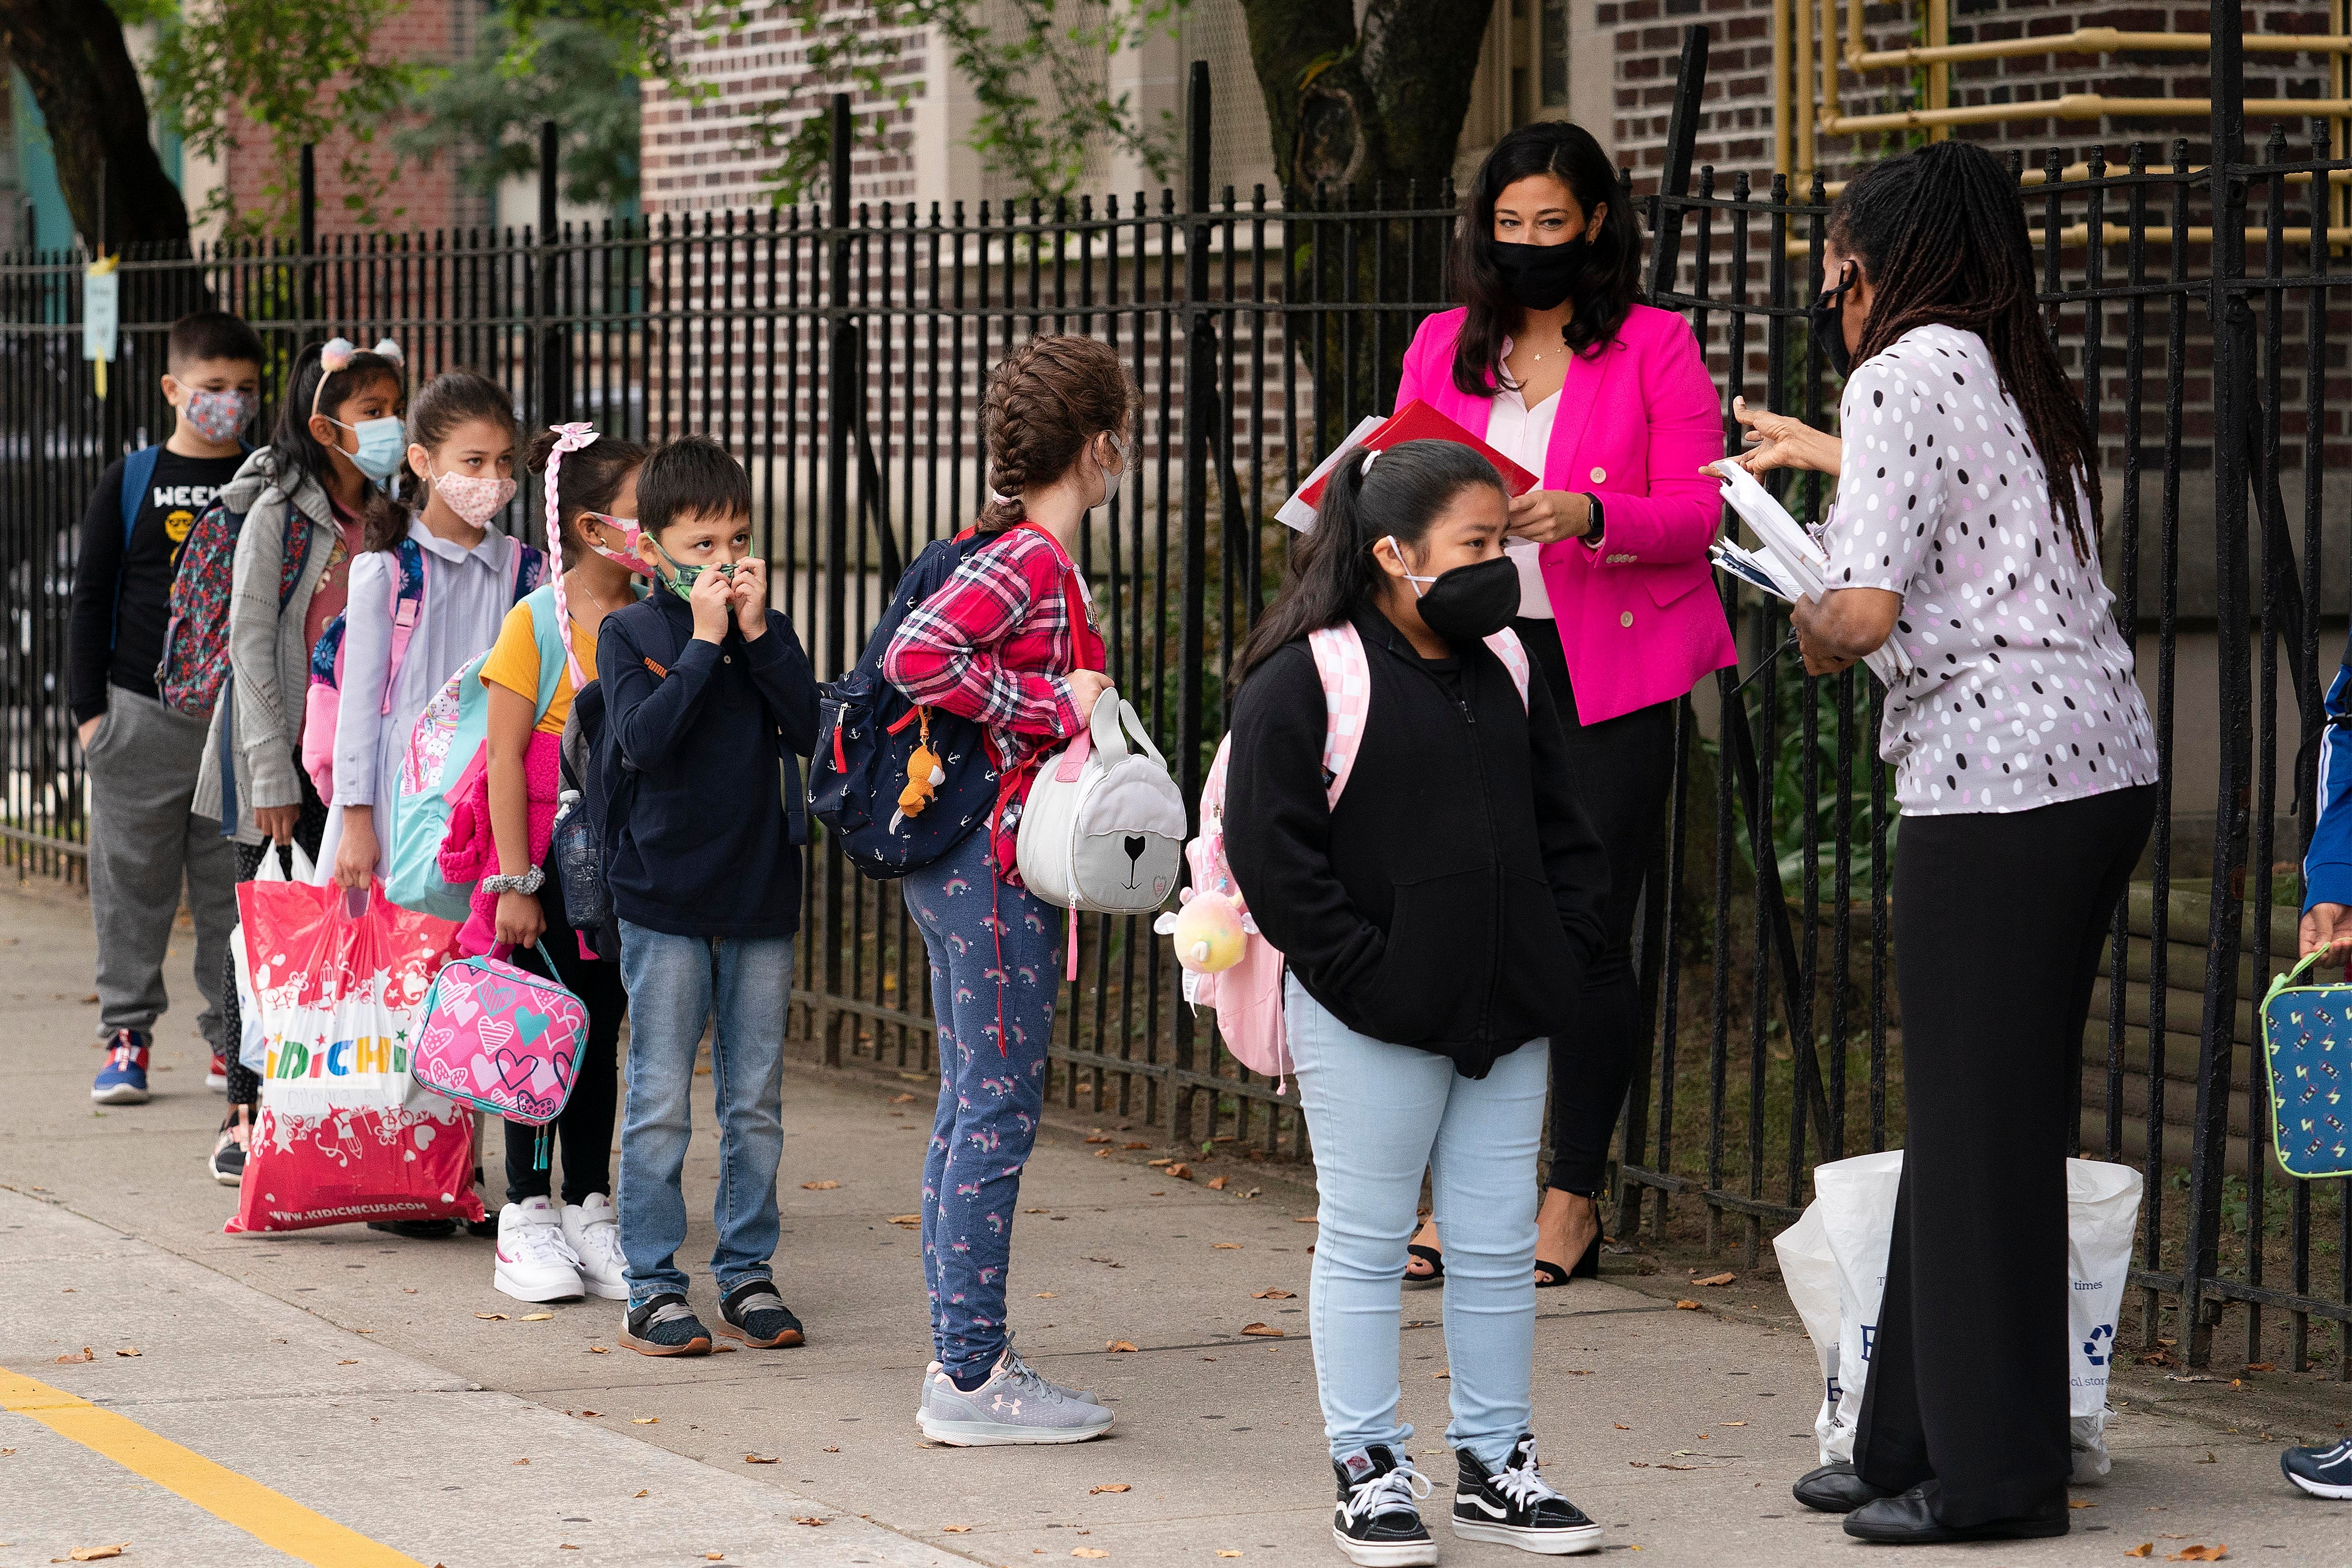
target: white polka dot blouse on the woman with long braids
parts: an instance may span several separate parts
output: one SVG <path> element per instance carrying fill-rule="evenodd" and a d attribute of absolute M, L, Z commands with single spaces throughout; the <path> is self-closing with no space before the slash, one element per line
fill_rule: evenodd
<path fill-rule="evenodd" d="M 1830 581 L 1903 595 L 1912 672 L 1879 755 L 1915 816 L 2030 811 L 2157 780 L 2098 557 L 2074 559 L 2025 418 L 1973 331 L 1915 327 L 1856 367 Z M 2089 508 L 2084 508 L 2089 522 Z"/>

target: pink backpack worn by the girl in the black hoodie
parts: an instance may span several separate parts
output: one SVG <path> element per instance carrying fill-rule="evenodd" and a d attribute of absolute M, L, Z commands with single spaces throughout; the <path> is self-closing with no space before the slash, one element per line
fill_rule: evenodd
<path fill-rule="evenodd" d="M 1315 654 L 1315 672 L 1324 684 L 1324 773 L 1331 776 L 1329 802 L 1338 806 L 1348 773 L 1355 771 L 1355 752 L 1364 745 L 1364 719 L 1371 710 L 1371 665 L 1364 661 L 1364 639 L 1352 625 L 1327 625 L 1308 632 L 1308 649 Z M 1486 649 L 1503 661 L 1510 679 L 1526 701 L 1526 649 L 1517 632 L 1501 630 L 1486 639 Z M 1200 788 L 1200 837 L 1183 846 L 1192 870 L 1192 886 L 1200 893 L 1225 893 L 1240 903 L 1232 867 L 1225 865 L 1225 764 L 1232 757 L 1232 736 L 1216 745 L 1216 762 Z M 1197 893 L 1195 893 L 1197 896 Z M 1225 1037 L 1225 1051 L 1251 1072 L 1272 1079 L 1291 1074 L 1291 1046 L 1282 1025 L 1282 952 L 1258 936 L 1258 922 L 1242 910 L 1242 961 L 1218 973 L 1183 973 L 1183 999 L 1195 1009 L 1216 1013 L 1216 1032 Z M 1275 1084 L 1282 1093 L 1282 1084 Z"/>

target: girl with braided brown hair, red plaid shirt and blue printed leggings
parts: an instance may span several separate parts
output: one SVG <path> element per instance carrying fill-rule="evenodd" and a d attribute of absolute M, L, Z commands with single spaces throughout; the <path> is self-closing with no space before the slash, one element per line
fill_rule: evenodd
<path fill-rule="evenodd" d="M 1120 355 L 1094 339 L 1030 339 L 997 364 L 981 414 L 995 498 L 978 520 L 995 541 L 908 614 L 882 661 L 910 701 L 976 719 L 1000 778 L 990 820 L 901 884 L 938 1018 L 938 1112 L 922 1166 L 938 1359 L 917 1410 L 938 1443 L 1077 1443 L 1110 1429 L 1110 1410 L 1021 1361 L 1004 1321 L 1063 929 L 1063 912 L 1021 884 L 1014 849 L 1037 764 L 1087 729 L 1110 689 L 1073 550 L 1127 470 L 1134 407 Z"/>

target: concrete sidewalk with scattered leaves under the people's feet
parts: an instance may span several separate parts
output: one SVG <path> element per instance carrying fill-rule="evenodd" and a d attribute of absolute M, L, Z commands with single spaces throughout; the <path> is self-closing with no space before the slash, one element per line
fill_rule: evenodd
<path fill-rule="evenodd" d="M 1103 1157 L 1084 1128 L 1049 1128 L 1023 1185 L 1014 1321 L 1023 1352 L 1098 1389 L 1117 1427 L 1075 1448 L 936 1448 L 913 1425 L 929 1354 L 917 1241 L 891 1225 L 917 1206 L 922 1086 L 788 1074 L 776 1276 L 809 1324 L 804 1349 L 642 1359 L 614 1349 L 614 1302 L 522 1321 L 532 1309 L 489 1286 L 487 1241 L 362 1227 L 223 1237 L 235 1194 L 202 1171 L 221 1100 L 202 1086 L 193 1039 L 193 943 L 172 961 L 179 1009 L 160 1027 L 160 1093 L 143 1107 L 87 1098 L 89 943 L 80 900 L 0 893 L 0 1081 L 16 1107 L 0 1124 L 0 1368 L 449 1568 L 703 1563 L 710 1552 L 729 1563 L 1343 1561 L 1329 1544 L 1303 1331 L 1315 1232 L 1298 1218 L 1312 1194 L 1268 1166 L 1211 1159 L 1200 1175 L 1232 1185 L 1209 1192 L 1143 1164 L 1164 1150 Z M 917 1098 L 901 1100 L 908 1091 Z M 1120 1143 L 1148 1138 L 1134 1128 Z M 701 1213 L 684 1258 L 710 1251 L 713 1164 L 699 1140 L 687 1180 Z M 840 1187 L 802 1187 L 821 1180 Z M 699 1279 L 696 1305 L 713 1307 L 710 1295 Z M 1609 1552 L 1863 1561 L 1835 1519 L 1788 1497 L 1813 1462 L 1818 1387 L 1802 1333 L 1677 1312 L 1621 1284 L 1581 1281 L 1541 1302 L 1548 1474 L 1609 1528 Z M 1526 1561 L 1442 1528 L 1439 1314 L 1437 1293 L 1406 1295 L 1404 1403 L 1439 1481 L 1439 1549 L 1463 1566 Z M 1284 1338 L 1242 1335 L 1247 1324 Z M 56 1363 L 85 1345 L 94 1361 Z M 139 1356 L 113 1354 L 129 1347 Z M 2293 1493 L 2277 1472 L 2281 1441 L 2319 1434 L 2256 1420 L 2230 1432 L 2230 1410 L 2136 1399 L 2112 1429 L 2112 1479 L 2077 1490 L 2074 1535 L 1905 1561 L 2117 1561 L 2140 1542 L 2164 1561 L 2227 1542 L 2234 1561 L 2352 1563 L 2352 1512 Z M 0 1568 L 122 1540 L 129 1563 L 289 1561 L 0 1415 Z"/>

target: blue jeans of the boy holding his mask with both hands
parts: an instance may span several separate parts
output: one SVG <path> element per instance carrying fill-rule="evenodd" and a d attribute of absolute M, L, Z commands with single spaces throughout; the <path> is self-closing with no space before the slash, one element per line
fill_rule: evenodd
<path fill-rule="evenodd" d="M 713 1018 L 720 1190 L 710 1204 L 720 1293 L 769 1279 L 776 1253 L 776 1164 L 783 1159 L 783 1004 L 793 938 L 670 936 L 621 922 L 628 987 L 628 1103 L 621 1110 L 621 1255 L 628 1305 L 684 1295 L 680 1173 L 694 1131 L 694 1053 Z"/>

